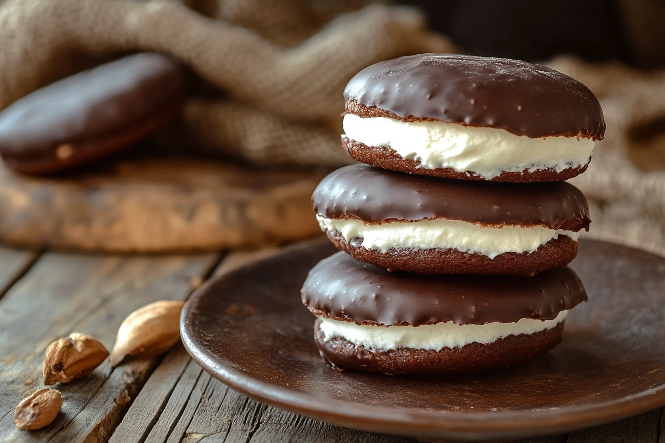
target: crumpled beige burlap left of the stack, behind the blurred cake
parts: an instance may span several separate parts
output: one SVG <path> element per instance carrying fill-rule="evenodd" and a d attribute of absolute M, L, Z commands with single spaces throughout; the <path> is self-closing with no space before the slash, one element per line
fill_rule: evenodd
<path fill-rule="evenodd" d="M 174 144 L 258 165 L 338 165 L 341 91 L 368 64 L 450 51 L 414 9 L 363 1 L 8 0 L 0 7 L 0 109 L 63 76 L 152 50 L 225 95 L 186 106 Z M 198 82 L 193 82 L 196 86 Z"/>

